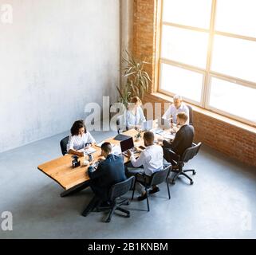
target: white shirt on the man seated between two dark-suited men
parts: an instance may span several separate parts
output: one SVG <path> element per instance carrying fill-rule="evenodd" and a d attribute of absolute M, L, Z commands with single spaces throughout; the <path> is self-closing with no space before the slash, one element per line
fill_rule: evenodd
<path fill-rule="evenodd" d="M 156 144 L 148 146 L 140 153 L 138 159 L 132 155 L 130 160 L 133 167 L 143 166 L 145 174 L 151 176 L 163 169 L 163 148 Z"/>

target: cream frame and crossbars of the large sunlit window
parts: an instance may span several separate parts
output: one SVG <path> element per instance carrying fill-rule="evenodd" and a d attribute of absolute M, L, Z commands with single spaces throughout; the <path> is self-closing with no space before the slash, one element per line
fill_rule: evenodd
<path fill-rule="evenodd" d="M 234 37 L 239 38 L 243 40 L 249 40 L 249 41 L 255 41 L 255 37 L 246 37 L 234 33 L 226 33 L 222 31 L 215 30 L 215 16 L 216 16 L 216 4 L 217 1 L 221 0 L 212 0 L 211 3 L 211 25 L 210 29 L 202 29 L 197 28 L 193 26 L 184 26 L 180 24 L 175 24 L 171 22 L 163 22 L 163 0 L 158 1 L 158 12 L 157 12 L 157 31 L 156 31 L 156 87 L 155 92 L 163 93 L 167 96 L 174 96 L 174 93 L 167 92 L 166 90 L 163 90 L 160 88 L 160 80 L 161 80 L 161 65 L 162 63 L 167 65 L 174 65 L 176 67 L 191 70 L 197 73 L 203 73 L 204 79 L 203 79 L 203 86 L 202 86 L 202 93 L 201 93 L 201 101 L 195 102 L 194 100 L 184 98 L 184 101 L 195 104 L 201 108 L 207 109 L 211 112 L 219 113 L 220 115 L 227 116 L 230 119 L 238 120 L 245 124 L 250 124 L 252 126 L 256 126 L 256 124 L 253 121 L 247 120 L 242 118 L 242 116 L 234 116 L 230 114 L 229 112 L 225 112 L 223 110 L 219 110 L 218 108 L 214 108 L 210 106 L 210 93 L 211 93 L 211 77 L 216 77 L 221 80 L 227 80 L 235 84 L 240 84 L 245 87 L 255 88 L 256 89 L 256 83 L 250 81 L 250 80 L 243 80 L 238 77 L 230 77 L 224 73 L 217 73 L 214 71 L 211 71 L 211 60 L 212 60 L 212 53 L 213 53 L 213 45 L 214 45 L 214 36 L 215 35 L 222 35 L 226 37 Z M 162 45 L 162 29 L 163 26 L 173 26 L 183 29 L 190 29 L 195 30 L 199 32 L 207 32 L 209 33 L 209 42 L 208 42 L 208 52 L 207 52 L 207 66 L 206 69 L 201 69 L 199 67 L 193 66 L 193 65 L 187 65 L 184 63 L 180 63 L 178 61 L 172 61 L 170 59 L 166 59 L 161 57 L 161 45 Z"/>

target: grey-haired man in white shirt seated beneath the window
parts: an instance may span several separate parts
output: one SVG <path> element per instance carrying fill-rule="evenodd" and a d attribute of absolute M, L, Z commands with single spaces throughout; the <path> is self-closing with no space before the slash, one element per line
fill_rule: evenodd
<path fill-rule="evenodd" d="M 187 105 L 183 103 L 183 99 L 179 95 L 173 97 L 173 104 L 169 106 L 167 111 L 163 114 L 163 120 L 168 120 L 172 117 L 173 123 L 177 123 L 177 114 L 185 112 L 188 116 L 186 124 L 189 124 L 189 110 Z"/>

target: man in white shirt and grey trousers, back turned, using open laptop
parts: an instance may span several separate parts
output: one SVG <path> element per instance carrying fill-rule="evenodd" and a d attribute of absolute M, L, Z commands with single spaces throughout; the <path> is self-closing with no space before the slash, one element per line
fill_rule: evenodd
<path fill-rule="evenodd" d="M 144 181 L 146 179 L 147 182 L 147 180 L 150 180 L 150 176 L 153 173 L 163 170 L 163 148 L 160 147 L 160 145 L 154 144 L 154 133 L 151 131 L 144 133 L 144 144 L 146 149 L 140 153 L 138 159 L 135 158 L 132 151 L 128 151 L 128 157 L 131 160 L 132 166 L 136 168 L 128 167 L 127 175 L 136 175 L 137 180 Z M 138 198 L 139 201 L 147 198 L 144 186 L 139 182 L 136 182 L 136 190 L 141 194 Z M 159 190 L 158 186 L 153 186 L 149 193 L 153 194 Z"/>

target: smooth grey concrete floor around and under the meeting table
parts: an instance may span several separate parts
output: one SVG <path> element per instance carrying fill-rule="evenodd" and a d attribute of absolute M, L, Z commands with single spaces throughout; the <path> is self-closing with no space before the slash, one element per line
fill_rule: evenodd
<path fill-rule="evenodd" d="M 128 206 L 131 218 L 104 213 L 81 216 L 93 193 L 90 189 L 61 198 L 61 186 L 37 165 L 61 155 L 55 135 L 0 154 L 0 215 L 13 214 L 13 230 L 0 238 L 255 238 L 256 169 L 203 146 L 187 168 L 195 168 L 195 183 L 182 177 L 146 202 Z M 113 132 L 93 132 L 99 142 Z M 130 196 L 131 193 L 128 194 Z M 3 221 L 0 218 L 0 226 Z"/>

